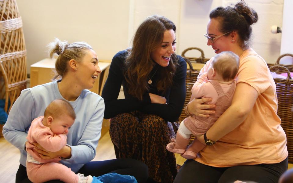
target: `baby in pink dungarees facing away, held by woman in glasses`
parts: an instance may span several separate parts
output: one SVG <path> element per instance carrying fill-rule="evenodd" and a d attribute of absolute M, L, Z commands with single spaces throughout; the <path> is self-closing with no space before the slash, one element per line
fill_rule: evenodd
<path fill-rule="evenodd" d="M 233 52 L 221 52 L 214 57 L 207 73 L 201 74 L 194 83 L 190 101 L 194 98 L 212 98 L 208 104 L 215 104 L 215 114 L 211 114 L 208 118 L 195 116 L 185 118 L 180 123 L 176 139 L 172 138 L 172 142 L 167 145 L 168 151 L 179 153 L 186 159 L 196 158 L 197 153 L 205 145 L 195 138 L 187 147 L 190 136 L 203 135 L 231 105 L 236 86 L 234 78 L 238 69 L 239 57 Z M 188 108 L 186 110 L 188 111 Z"/>

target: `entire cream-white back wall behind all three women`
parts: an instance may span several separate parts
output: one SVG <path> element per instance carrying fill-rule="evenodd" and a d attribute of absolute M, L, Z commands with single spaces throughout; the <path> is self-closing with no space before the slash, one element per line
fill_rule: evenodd
<path fill-rule="evenodd" d="M 127 48 L 139 24 L 152 14 L 163 15 L 177 27 L 177 54 L 188 47 L 214 56 L 203 36 L 209 12 L 238 0 L 16 0 L 23 20 L 28 72 L 31 64 L 48 56 L 46 45 L 54 39 L 86 41 L 99 59 L 112 59 Z M 282 27 L 284 0 L 246 0 L 259 14 L 253 25 L 253 45 L 268 63 L 280 55 L 281 34 L 270 33 L 272 25 Z M 199 56 L 190 52 L 186 56 Z"/>

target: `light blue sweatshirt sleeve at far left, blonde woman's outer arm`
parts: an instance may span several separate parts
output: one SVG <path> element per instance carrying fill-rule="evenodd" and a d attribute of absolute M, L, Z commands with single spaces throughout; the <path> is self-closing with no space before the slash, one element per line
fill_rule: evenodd
<path fill-rule="evenodd" d="M 34 99 L 30 89 L 25 89 L 14 102 L 3 127 L 4 138 L 20 151 L 26 151 L 27 131 L 34 119 L 34 114 Z"/>

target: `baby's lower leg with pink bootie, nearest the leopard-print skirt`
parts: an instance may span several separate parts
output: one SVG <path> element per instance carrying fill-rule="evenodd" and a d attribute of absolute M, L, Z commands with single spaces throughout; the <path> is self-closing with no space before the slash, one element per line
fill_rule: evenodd
<path fill-rule="evenodd" d="M 176 139 L 172 138 L 166 149 L 170 152 L 182 154 L 185 152 L 186 146 L 190 142 L 191 132 L 185 127 L 184 120 L 180 123 L 176 134 Z"/>

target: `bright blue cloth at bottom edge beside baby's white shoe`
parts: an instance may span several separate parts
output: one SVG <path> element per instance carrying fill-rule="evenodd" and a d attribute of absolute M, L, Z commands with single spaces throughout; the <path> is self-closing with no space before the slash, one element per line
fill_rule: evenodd
<path fill-rule="evenodd" d="M 137 183 L 137 181 L 136 178 L 131 175 L 110 173 L 99 177 L 92 177 L 92 183 Z"/>

